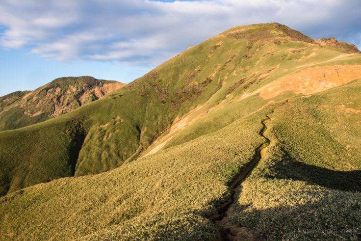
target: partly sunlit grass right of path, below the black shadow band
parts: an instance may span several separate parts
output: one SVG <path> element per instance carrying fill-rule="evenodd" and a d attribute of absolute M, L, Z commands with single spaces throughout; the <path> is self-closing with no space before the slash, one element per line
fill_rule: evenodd
<path fill-rule="evenodd" d="M 359 240 L 360 192 L 250 178 L 230 220 L 265 240 Z"/>

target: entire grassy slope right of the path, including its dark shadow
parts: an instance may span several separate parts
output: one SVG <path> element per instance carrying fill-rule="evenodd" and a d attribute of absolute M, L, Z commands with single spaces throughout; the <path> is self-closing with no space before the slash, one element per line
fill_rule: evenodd
<path fill-rule="evenodd" d="M 361 81 L 275 109 L 231 220 L 267 240 L 358 240 Z"/>

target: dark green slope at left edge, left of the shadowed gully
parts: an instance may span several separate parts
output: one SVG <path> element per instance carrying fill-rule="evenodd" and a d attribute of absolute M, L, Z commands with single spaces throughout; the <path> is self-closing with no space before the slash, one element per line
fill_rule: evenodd
<path fill-rule="evenodd" d="M 56 125 L 53 123 L 54 120 L 47 122 L 46 128 L 41 124 L 33 125 L 31 131 L 19 129 L 17 138 L 14 138 L 14 131 L 1 133 L 0 193 L 74 174 L 81 148 L 79 139 L 83 135 L 81 120 L 61 118 L 62 125 L 58 125 L 59 120 Z M 29 139 L 33 141 L 26 144 L 21 141 Z"/>

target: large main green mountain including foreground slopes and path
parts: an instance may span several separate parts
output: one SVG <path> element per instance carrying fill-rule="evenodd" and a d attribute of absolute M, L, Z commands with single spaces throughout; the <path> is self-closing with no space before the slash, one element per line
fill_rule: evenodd
<path fill-rule="evenodd" d="M 1 239 L 358 239 L 361 54 L 340 45 L 234 27 L 0 132 Z"/>

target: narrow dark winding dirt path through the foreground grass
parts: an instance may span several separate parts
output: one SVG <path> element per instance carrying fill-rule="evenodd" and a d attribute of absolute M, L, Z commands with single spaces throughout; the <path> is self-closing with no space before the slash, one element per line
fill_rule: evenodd
<path fill-rule="evenodd" d="M 234 200 L 235 197 L 238 196 L 241 191 L 240 188 L 241 183 L 246 179 L 246 177 L 252 172 L 252 170 L 257 166 L 258 162 L 261 160 L 262 150 L 270 144 L 270 140 L 263 135 L 263 133 L 267 130 L 266 123 L 270 121 L 268 115 L 266 117 L 267 117 L 266 120 L 261 121 L 263 127 L 259 132 L 259 134 L 266 139 L 266 143 L 258 147 L 253 159 L 250 162 L 248 162 L 234 178 L 232 184 L 230 185 L 231 198 L 217 208 L 218 211 L 217 214 L 210 217 L 210 219 L 218 229 L 220 240 L 223 241 L 257 240 L 257 238 L 247 228 L 238 227 L 237 225 L 232 224 L 228 220 L 228 215 L 230 214 L 230 208 L 232 207 L 232 204 L 235 201 Z"/>

